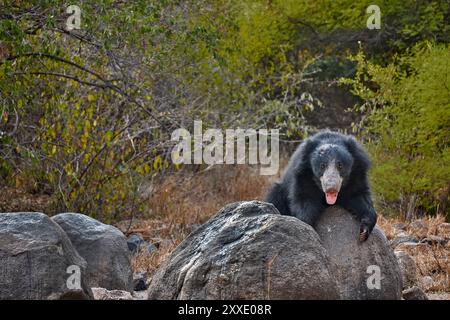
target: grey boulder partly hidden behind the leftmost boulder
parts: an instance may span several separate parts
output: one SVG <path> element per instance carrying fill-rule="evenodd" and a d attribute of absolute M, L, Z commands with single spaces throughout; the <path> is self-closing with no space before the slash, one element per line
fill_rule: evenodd
<path fill-rule="evenodd" d="M 52 219 L 86 260 L 85 278 L 91 288 L 133 290 L 131 255 L 119 229 L 79 213 L 60 213 Z"/>

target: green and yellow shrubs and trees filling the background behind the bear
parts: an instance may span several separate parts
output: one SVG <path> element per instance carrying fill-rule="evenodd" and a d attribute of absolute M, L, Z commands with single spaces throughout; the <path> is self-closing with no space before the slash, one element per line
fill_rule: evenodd
<path fill-rule="evenodd" d="M 370 4 L 0 0 L 1 184 L 112 222 L 148 212 L 194 119 L 277 127 L 288 150 L 330 127 L 365 142 L 379 210 L 446 214 L 450 3 L 377 1 L 380 30 Z"/>

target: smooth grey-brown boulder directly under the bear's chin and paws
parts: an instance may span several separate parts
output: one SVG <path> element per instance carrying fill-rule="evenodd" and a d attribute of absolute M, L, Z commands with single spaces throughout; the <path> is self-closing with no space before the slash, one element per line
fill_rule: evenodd
<path fill-rule="evenodd" d="M 334 265 L 343 299 L 400 299 L 402 294 L 401 271 L 397 258 L 378 227 L 365 242 L 359 242 L 359 221 L 338 206 L 328 208 L 316 230 Z M 379 269 L 378 269 L 379 268 Z M 376 270 L 381 273 L 380 287 Z"/>

